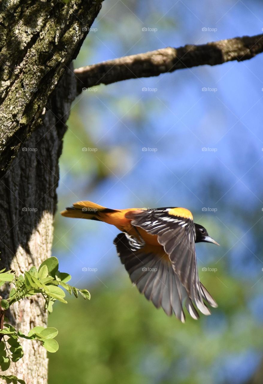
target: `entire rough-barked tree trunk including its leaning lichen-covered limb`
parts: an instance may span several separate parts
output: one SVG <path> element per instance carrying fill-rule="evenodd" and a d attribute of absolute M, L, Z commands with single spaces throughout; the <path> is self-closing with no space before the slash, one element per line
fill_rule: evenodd
<path fill-rule="evenodd" d="M 51 256 L 58 159 L 77 92 L 71 61 L 101 2 L 6 0 L 0 7 L 0 267 L 19 274 Z M 46 325 L 41 298 L 11 308 L 7 317 L 23 333 Z M 5 374 L 45 384 L 45 349 L 22 345 L 24 357 Z"/>

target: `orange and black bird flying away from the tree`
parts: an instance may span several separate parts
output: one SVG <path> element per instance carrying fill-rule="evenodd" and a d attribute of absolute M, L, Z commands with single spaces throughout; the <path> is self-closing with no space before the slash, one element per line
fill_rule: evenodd
<path fill-rule="evenodd" d="M 130 279 L 146 299 L 185 322 L 183 305 L 194 319 L 197 309 L 209 315 L 217 303 L 199 280 L 195 243 L 219 245 L 185 208 L 109 209 L 79 201 L 62 216 L 87 218 L 115 225 L 122 233 L 114 240 Z M 197 308 L 197 309 L 196 309 Z"/>

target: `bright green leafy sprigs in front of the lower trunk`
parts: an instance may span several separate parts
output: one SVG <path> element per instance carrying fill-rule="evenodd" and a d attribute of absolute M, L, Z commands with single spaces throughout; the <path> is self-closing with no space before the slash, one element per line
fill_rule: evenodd
<path fill-rule="evenodd" d="M 53 304 L 56 300 L 61 303 L 67 303 L 64 299 L 66 290 L 70 295 L 72 292 L 77 298 L 80 294 L 85 300 L 90 299 L 89 291 L 78 289 L 68 284 L 71 275 L 60 272 L 59 264 L 56 257 L 46 259 L 38 268 L 32 266 L 29 271 L 25 271 L 23 275 L 17 276 L 14 271 L 0 271 L 0 286 L 4 284 L 12 284 L 9 297 L 2 299 L 0 296 L 0 366 L 2 371 L 6 371 L 10 362 L 16 362 L 23 357 L 23 348 L 19 339 L 29 339 L 39 341 L 48 352 L 58 351 L 58 342 L 54 338 L 58 334 L 58 330 L 53 327 L 44 328 L 36 326 L 31 329 L 27 335 L 16 331 L 16 329 L 8 323 L 4 324 L 5 312 L 10 305 L 18 300 L 24 300 L 27 297 L 40 294 L 44 298 L 44 308 L 49 313 L 53 310 Z M 64 288 L 64 290 L 62 288 Z M 7 383 L 25 382 L 16 376 L 0 375 Z"/>

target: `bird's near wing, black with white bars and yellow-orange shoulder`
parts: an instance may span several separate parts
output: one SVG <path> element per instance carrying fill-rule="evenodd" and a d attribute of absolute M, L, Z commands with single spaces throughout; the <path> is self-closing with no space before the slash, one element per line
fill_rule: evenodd
<path fill-rule="evenodd" d="M 158 242 L 169 255 L 173 270 L 187 295 L 203 314 L 210 314 L 203 299 L 213 307 L 217 303 L 206 293 L 199 280 L 191 212 L 183 208 L 160 208 L 130 211 L 125 216 L 132 219 L 132 225 L 158 235 Z"/>

